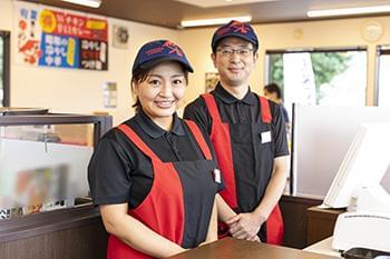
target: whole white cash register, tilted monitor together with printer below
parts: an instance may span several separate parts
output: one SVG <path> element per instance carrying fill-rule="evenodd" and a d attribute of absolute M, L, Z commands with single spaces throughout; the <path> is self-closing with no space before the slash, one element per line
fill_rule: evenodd
<path fill-rule="evenodd" d="M 350 211 L 337 220 L 335 250 L 390 252 L 390 195 L 380 186 L 390 165 L 389 132 L 390 122 L 361 124 L 326 193 L 325 206 Z"/>

